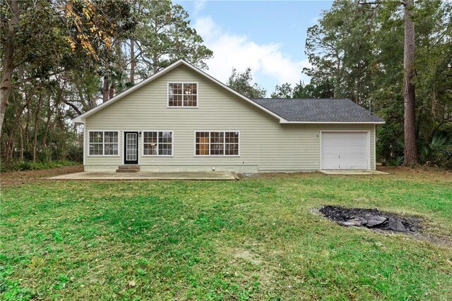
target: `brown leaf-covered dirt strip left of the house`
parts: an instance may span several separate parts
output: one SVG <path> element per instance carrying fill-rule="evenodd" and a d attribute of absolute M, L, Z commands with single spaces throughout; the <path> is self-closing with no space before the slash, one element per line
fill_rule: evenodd
<path fill-rule="evenodd" d="M 22 185 L 42 180 L 42 178 L 67 173 L 80 173 L 81 171 L 83 171 L 82 165 L 40 169 L 39 171 L 8 171 L 7 173 L 0 174 L 0 183 L 1 187 Z"/>

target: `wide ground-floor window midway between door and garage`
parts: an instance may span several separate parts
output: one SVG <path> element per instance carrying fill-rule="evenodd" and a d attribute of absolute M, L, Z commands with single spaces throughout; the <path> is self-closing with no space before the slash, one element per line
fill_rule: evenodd
<path fill-rule="evenodd" d="M 196 132 L 196 156 L 238 156 L 239 132 Z"/>

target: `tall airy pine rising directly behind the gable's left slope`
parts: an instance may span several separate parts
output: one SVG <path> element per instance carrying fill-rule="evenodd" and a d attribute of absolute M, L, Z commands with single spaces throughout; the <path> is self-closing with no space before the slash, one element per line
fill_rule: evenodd
<path fill-rule="evenodd" d="M 133 4 L 138 25 L 129 41 L 131 82 L 135 82 L 137 66 L 143 78 L 179 59 L 207 68 L 205 60 L 213 52 L 190 27 L 189 14 L 182 6 L 170 0 L 135 0 Z"/>

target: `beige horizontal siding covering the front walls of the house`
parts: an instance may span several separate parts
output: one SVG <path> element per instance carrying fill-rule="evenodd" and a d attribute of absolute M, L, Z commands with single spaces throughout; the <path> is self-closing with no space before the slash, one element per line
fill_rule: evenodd
<path fill-rule="evenodd" d="M 198 82 L 198 108 L 167 107 L 167 82 Z M 123 162 L 124 130 L 172 130 L 173 156 L 142 156 L 142 170 L 229 169 L 303 171 L 320 168 L 321 130 L 369 130 L 374 168 L 373 124 L 280 124 L 278 119 L 240 99 L 186 66 L 179 66 L 88 116 L 85 130 L 119 130 L 119 156 L 88 156 L 87 170 L 114 170 Z M 240 156 L 195 156 L 195 131 L 239 131 Z M 102 167 L 103 166 L 103 167 Z M 185 166 L 185 167 L 184 167 Z"/>

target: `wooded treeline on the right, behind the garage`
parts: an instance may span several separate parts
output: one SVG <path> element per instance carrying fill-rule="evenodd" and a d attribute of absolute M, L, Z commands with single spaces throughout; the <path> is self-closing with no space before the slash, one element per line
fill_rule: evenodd
<path fill-rule="evenodd" d="M 452 167 L 452 3 L 412 2 L 334 1 L 307 32 L 311 68 L 304 73 L 311 81 L 294 89 L 277 86 L 272 97 L 346 97 L 371 106 L 386 120 L 378 127 L 377 159 L 398 165 L 404 162 L 404 93 L 412 93 L 414 161 Z M 409 91 L 404 84 L 407 11 L 415 33 Z"/>

